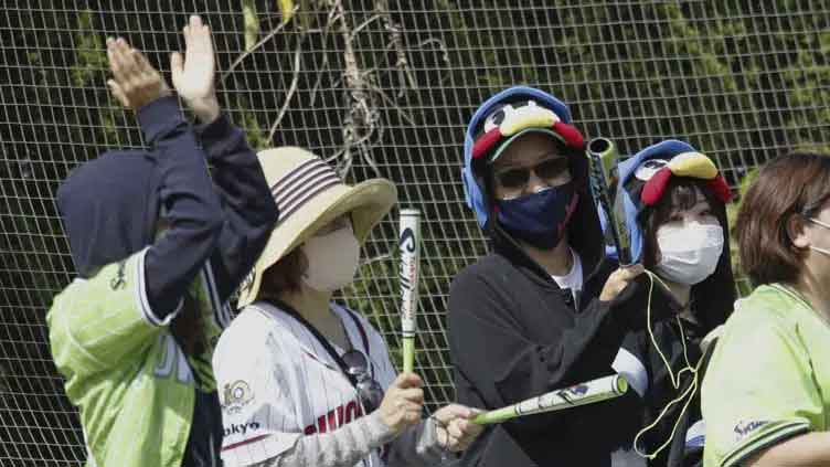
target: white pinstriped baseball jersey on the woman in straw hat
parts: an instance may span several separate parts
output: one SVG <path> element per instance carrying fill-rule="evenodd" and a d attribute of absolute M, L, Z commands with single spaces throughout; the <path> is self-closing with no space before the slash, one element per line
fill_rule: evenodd
<path fill-rule="evenodd" d="M 352 314 L 358 326 L 349 310 L 336 304 L 330 308 L 343 322 L 352 348 L 368 357 L 371 375 L 386 390 L 396 371 L 381 335 L 362 316 Z M 369 349 L 363 346 L 363 333 Z M 331 346 L 341 355 L 345 352 Z M 224 331 L 213 368 L 222 403 L 226 467 L 272 458 L 304 434 L 331 432 L 364 413 L 354 386 L 315 335 L 264 301 L 245 307 Z M 384 466 L 379 453 L 370 457 L 372 466 Z"/>

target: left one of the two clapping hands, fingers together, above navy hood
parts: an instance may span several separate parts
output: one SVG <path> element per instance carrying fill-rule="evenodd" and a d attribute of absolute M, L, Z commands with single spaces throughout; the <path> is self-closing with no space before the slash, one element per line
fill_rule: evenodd
<path fill-rule="evenodd" d="M 113 72 L 113 79 L 107 81 L 107 86 L 126 108 L 138 110 L 170 95 L 170 87 L 161 74 L 124 39 L 107 39 L 107 59 Z"/>

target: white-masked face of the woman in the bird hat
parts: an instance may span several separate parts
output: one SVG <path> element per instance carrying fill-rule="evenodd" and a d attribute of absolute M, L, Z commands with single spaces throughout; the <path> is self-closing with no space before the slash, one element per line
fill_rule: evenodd
<path fill-rule="evenodd" d="M 657 231 L 657 273 L 673 283 L 695 285 L 711 276 L 723 253 L 723 227 L 703 195 L 685 210 L 673 210 Z"/>

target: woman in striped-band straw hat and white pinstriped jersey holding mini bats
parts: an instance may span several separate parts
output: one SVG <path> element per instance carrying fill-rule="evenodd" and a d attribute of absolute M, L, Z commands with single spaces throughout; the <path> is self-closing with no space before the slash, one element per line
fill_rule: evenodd
<path fill-rule="evenodd" d="M 299 148 L 259 160 L 281 216 L 213 358 L 225 466 L 428 466 L 464 449 L 481 431 L 477 411 L 450 404 L 422 420 L 421 378 L 396 376 L 381 335 L 331 301 L 394 185 L 344 184 Z"/>

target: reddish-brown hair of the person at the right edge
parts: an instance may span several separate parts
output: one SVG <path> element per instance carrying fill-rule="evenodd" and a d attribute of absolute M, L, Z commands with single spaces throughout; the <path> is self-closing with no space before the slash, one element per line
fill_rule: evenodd
<path fill-rule="evenodd" d="M 792 152 L 770 160 L 749 185 L 737 214 L 741 267 L 754 285 L 792 283 L 804 251 L 792 244 L 787 224 L 811 217 L 830 199 L 830 157 Z"/>

